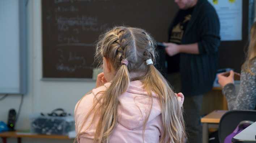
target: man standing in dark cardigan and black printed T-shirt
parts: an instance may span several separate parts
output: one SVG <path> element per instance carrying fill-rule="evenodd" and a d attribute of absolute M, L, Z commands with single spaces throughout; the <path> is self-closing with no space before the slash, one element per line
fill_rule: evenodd
<path fill-rule="evenodd" d="M 175 0 L 179 6 L 169 29 L 168 80 L 183 92 L 189 143 L 202 142 L 202 95 L 212 89 L 218 65 L 219 19 L 207 0 Z"/>

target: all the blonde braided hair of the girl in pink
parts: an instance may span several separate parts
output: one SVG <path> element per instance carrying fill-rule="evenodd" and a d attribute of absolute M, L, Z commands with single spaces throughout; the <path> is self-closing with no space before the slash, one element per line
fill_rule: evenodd
<path fill-rule="evenodd" d="M 130 81 L 140 80 L 150 97 L 150 111 L 153 102 L 152 92 L 157 94 L 162 108 L 163 130 L 160 143 L 184 142 L 183 109 L 179 107 L 178 98 L 154 65 L 146 65 L 146 60 L 152 59 L 155 61 L 156 59 L 155 44 L 148 33 L 140 28 L 114 27 L 100 36 L 95 57 L 101 62 L 103 57 L 109 59 L 116 71 L 116 75 L 110 87 L 101 92 L 102 96 L 97 97 L 97 100 L 95 100 L 92 109 L 86 115 L 84 123 L 78 130 L 76 139 L 82 134 L 81 129 L 88 116 L 93 113 L 93 109 L 99 104 L 97 110 L 100 113 L 100 117 L 96 126 L 94 143 L 108 143 L 118 117 L 118 97 L 126 92 Z M 129 62 L 128 65 L 121 64 L 121 60 L 127 60 Z M 130 79 L 129 73 L 131 72 L 144 72 L 145 74 L 141 77 Z M 149 114 L 143 125 L 143 140 Z M 95 112 L 92 120 L 94 120 L 94 117 Z"/>

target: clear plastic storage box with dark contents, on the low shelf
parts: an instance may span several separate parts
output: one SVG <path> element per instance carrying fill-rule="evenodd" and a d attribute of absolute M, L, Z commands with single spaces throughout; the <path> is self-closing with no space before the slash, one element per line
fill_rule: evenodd
<path fill-rule="evenodd" d="M 30 116 L 32 133 L 47 135 L 68 135 L 68 132 L 75 130 L 73 116 L 42 116 L 34 114 Z"/>

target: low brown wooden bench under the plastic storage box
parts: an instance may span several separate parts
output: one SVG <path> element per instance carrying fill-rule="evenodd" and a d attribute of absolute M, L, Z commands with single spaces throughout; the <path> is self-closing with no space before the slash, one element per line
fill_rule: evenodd
<path fill-rule="evenodd" d="M 7 143 L 7 138 L 17 138 L 18 143 L 21 143 L 21 138 L 72 139 L 69 138 L 67 135 L 41 135 L 18 132 L 3 132 L 0 133 L 0 137 L 3 140 L 3 143 Z"/>

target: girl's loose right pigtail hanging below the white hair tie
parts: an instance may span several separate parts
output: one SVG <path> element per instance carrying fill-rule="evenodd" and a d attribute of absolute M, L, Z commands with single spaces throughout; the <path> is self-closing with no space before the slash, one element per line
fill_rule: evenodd
<path fill-rule="evenodd" d="M 185 124 L 183 120 L 183 109 L 178 105 L 178 99 L 163 75 L 154 67 L 148 65 L 148 74 L 145 77 L 145 89 L 158 94 L 160 106 L 162 107 L 163 131 L 160 143 L 184 143 Z"/>

